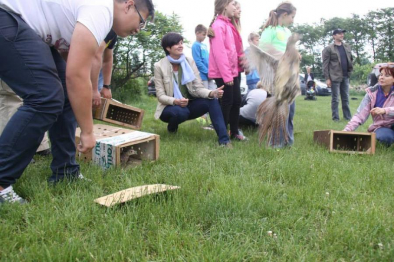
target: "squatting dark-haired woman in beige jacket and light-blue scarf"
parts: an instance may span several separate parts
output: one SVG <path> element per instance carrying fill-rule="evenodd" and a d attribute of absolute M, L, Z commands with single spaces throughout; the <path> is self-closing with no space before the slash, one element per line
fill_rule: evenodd
<path fill-rule="evenodd" d="M 166 57 L 155 63 L 155 86 L 158 105 L 155 118 L 168 123 L 170 133 L 186 120 L 209 112 L 220 145 L 230 140 L 217 98 L 223 96 L 223 87 L 208 90 L 192 58 L 183 54 L 183 37 L 170 32 L 162 39 Z"/>

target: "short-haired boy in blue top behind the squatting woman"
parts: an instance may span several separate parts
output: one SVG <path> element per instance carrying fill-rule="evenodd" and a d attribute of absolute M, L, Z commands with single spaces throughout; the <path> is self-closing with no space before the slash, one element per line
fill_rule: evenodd
<path fill-rule="evenodd" d="M 191 47 L 191 53 L 193 55 L 193 59 L 197 68 L 200 72 L 201 80 L 203 80 L 203 84 L 205 88 L 209 90 L 215 90 L 216 84 L 212 79 L 208 78 L 208 61 L 209 61 L 209 51 L 206 44 L 204 44 L 204 40 L 207 37 L 208 29 L 203 25 L 198 25 L 195 27 L 195 42 Z"/>

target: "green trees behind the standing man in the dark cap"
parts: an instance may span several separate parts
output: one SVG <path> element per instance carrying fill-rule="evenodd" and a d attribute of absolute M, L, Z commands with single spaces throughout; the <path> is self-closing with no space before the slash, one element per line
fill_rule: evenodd
<path fill-rule="evenodd" d="M 300 44 L 303 55 L 301 67 L 310 66 L 322 78 L 323 48 L 333 42 L 332 31 L 347 30 L 344 40 L 352 46 L 355 70 L 352 79 L 365 83 L 376 63 L 394 61 L 394 8 L 370 11 L 364 16 L 352 14 L 349 18 L 321 19 L 320 23 L 294 25 L 292 32 L 304 35 Z"/>

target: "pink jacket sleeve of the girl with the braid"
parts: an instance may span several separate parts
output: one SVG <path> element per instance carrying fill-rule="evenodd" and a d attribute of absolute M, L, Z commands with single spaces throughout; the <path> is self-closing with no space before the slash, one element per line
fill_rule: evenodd
<path fill-rule="evenodd" d="M 215 32 L 215 37 L 211 38 L 211 45 L 213 48 L 212 55 L 215 59 L 215 62 L 218 66 L 220 75 L 223 78 L 224 83 L 228 83 L 234 80 L 234 77 L 231 74 L 231 67 L 228 61 L 226 47 L 224 45 L 224 41 L 226 41 L 225 37 L 225 28 L 224 27 L 215 27 L 212 28 Z"/>

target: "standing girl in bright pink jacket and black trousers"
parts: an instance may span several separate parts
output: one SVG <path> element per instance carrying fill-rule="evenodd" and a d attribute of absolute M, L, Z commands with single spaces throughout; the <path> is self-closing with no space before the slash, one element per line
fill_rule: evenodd
<path fill-rule="evenodd" d="M 241 91 L 238 79 L 238 55 L 232 32 L 231 18 L 235 12 L 234 0 L 215 0 L 215 15 L 208 30 L 210 55 L 208 77 L 215 80 L 218 87 L 224 85 L 220 100 L 224 123 L 230 124 L 230 138 L 246 141 L 238 133 Z"/>

